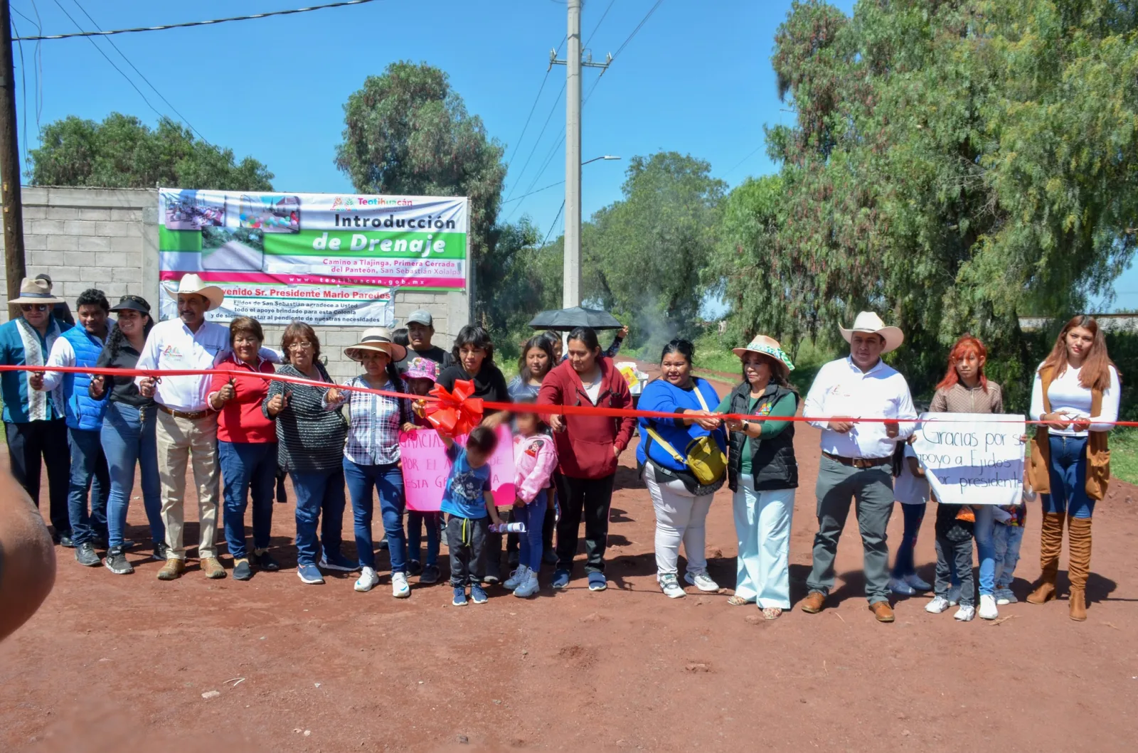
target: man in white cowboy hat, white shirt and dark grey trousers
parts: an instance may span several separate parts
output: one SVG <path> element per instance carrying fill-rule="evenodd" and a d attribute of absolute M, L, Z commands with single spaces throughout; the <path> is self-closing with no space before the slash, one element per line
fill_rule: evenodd
<path fill-rule="evenodd" d="M 850 344 L 850 355 L 818 371 L 802 411 L 807 419 L 817 419 L 810 423 L 822 429 L 818 532 L 814 537 L 814 566 L 806 581 L 810 593 L 802 611 L 819 612 L 833 588 L 838 539 L 853 498 L 861 530 L 866 598 L 879 622 L 892 622 L 885 540 L 893 510 L 892 456 L 897 442 L 913 433 L 917 413 L 905 378 L 881 356 L 896 350 L 905 336 L 896 326 L 885 326 L 872 312 L 858 314 L 852 328 L 840 329 Z"/>

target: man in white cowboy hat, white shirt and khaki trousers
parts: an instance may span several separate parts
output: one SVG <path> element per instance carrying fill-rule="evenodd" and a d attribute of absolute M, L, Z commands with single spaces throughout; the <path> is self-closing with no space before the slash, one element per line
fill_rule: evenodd
<path fill-rule="evenodd" d="M 171 291 L 174 292 L 174 291 Z M 176 289 L 178 318 L 158 322 L 147 336 L 138 369 L 212 369 L 229 347 L 229 328 L 207 322 L 206 312 L 221 306 L 225 292 L 188 273 Z M 280 361 L 271 350 L 262 356 Z M 185 508 L 185 466 L 193 467 L 198 494 L 198 558 L 206 578 L 224 578 L 214 538 L 217 532 L 217 414 L 209 409 L 209 376 L 138 376 L 145 397 L 158 404 L 158 474 L 162 481 L 162 522 L 166 526 L 166 564 L 159 580 L 185 571 L 182 541 Z"/>

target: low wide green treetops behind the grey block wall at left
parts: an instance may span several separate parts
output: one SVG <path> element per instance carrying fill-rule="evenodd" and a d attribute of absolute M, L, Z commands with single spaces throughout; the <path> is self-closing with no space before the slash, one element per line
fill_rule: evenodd
<path fill-rule="evenodd" d="M 232 149 L 201 140 L 168 118 L 150 129 L 139 118 L 112 113 L 102 123 L 71 115 L 43 126 L 30 152 L 33 185 L 271 191 L 273 174 L 251 157 L 238 163 Z"/>

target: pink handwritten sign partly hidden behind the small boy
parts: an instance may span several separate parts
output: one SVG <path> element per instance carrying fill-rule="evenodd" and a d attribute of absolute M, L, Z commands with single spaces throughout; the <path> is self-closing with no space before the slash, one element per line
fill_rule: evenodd
<path fill-rule="evenodd" d="M 513 437 L 509 427 L 498 427 L 498 446 L 490 456 L 490 489 L 498 507 L 509 507 L 518 496 L 513 486 Z M 460 445 L 467 444 L 459 437 Z M 434 429 L 399 432 L 403 458 L 403 490 L 407 510 L 432 512 L 443 504 L 443 489 L 451 472 L 446 445 Z"/>

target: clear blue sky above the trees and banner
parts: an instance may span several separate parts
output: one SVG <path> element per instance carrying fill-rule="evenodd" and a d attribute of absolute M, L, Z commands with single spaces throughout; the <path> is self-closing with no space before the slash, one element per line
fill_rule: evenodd
<path fill-rule="evenodd" d="M 11 0 L 11 7 L 17 31 L 27 35 L 34 25 L 24 16 L 35 19 L 36 9 L 43 31 L 50 34 L 75 31 L 63 9 L 83 28 L 92 24 L 82 9 L 101 28 L 123 28 L 323 1 Z M 586 0 L 582 33 L 593 58 L 616 52 L 653 5 L 655 0 Z M 853 0 L 835 5 L 849 13 Z M 792 121 L 778 101 L 769 59 L 775 30 L 789 6 L 789 0 L 665 0 L 660 5 L 596 83 L 585 106 L 582 158 L 605 154 L 625 158 L 584 167 L 586 217 L 620 198 L 625 165 L 634 155 L 662 149 L 691 154 L 708 160 L 712 174 L 731 185 L 774 169 L 762 144 L 762 126 Z M 349 181 L 332 158 L 348 94 L 391 61 L 426 61 L 450 74 L 468 110 L 480 116 L 489 135 L 505 146 L 510 158 L 505 198 L 516 198 L 564 179 L 563 151 L 555 146 L 564 126 L 564 108 L 558 98 L 564 67 L 555 66 L 549 74 L 519 141 L 545 77 L 549 52 L 564 34 L 566 6 L 558 0 L 380 0 L 109 38 L 168 105 L 106 40 L 42 42 L 42 76 L 35 65 L 35 44 L 24 43 L 23 69 L 20 50 L 14 50 L 22 148 L 28 141 L 34 146 L 36 123 L 67 115 L 98 121 L 117 110 L 154 124 L 156 109 L 188 121 L 211 142 L 233 149 L 238 158 L 250 155 L 265 163 L 279 190 L 347 191 Z M 96 45 L 134 81 L 154 109 Z M 595 71 L 585 71 L 586 93 L 596 76 Z M 549 155 L 552 159 L 546 165 Z M 561 221 L 554 224 L 554 220 L 563 197 L 563 188 L 555 185 L 510 201 L 501 216 L 517 220 L 528 214 L 543 232 L 552 229 L 556 237 Z M 1124 273 L 1115 290 L 1115 306 L 1138 308 L 1138 268 Z"/>

